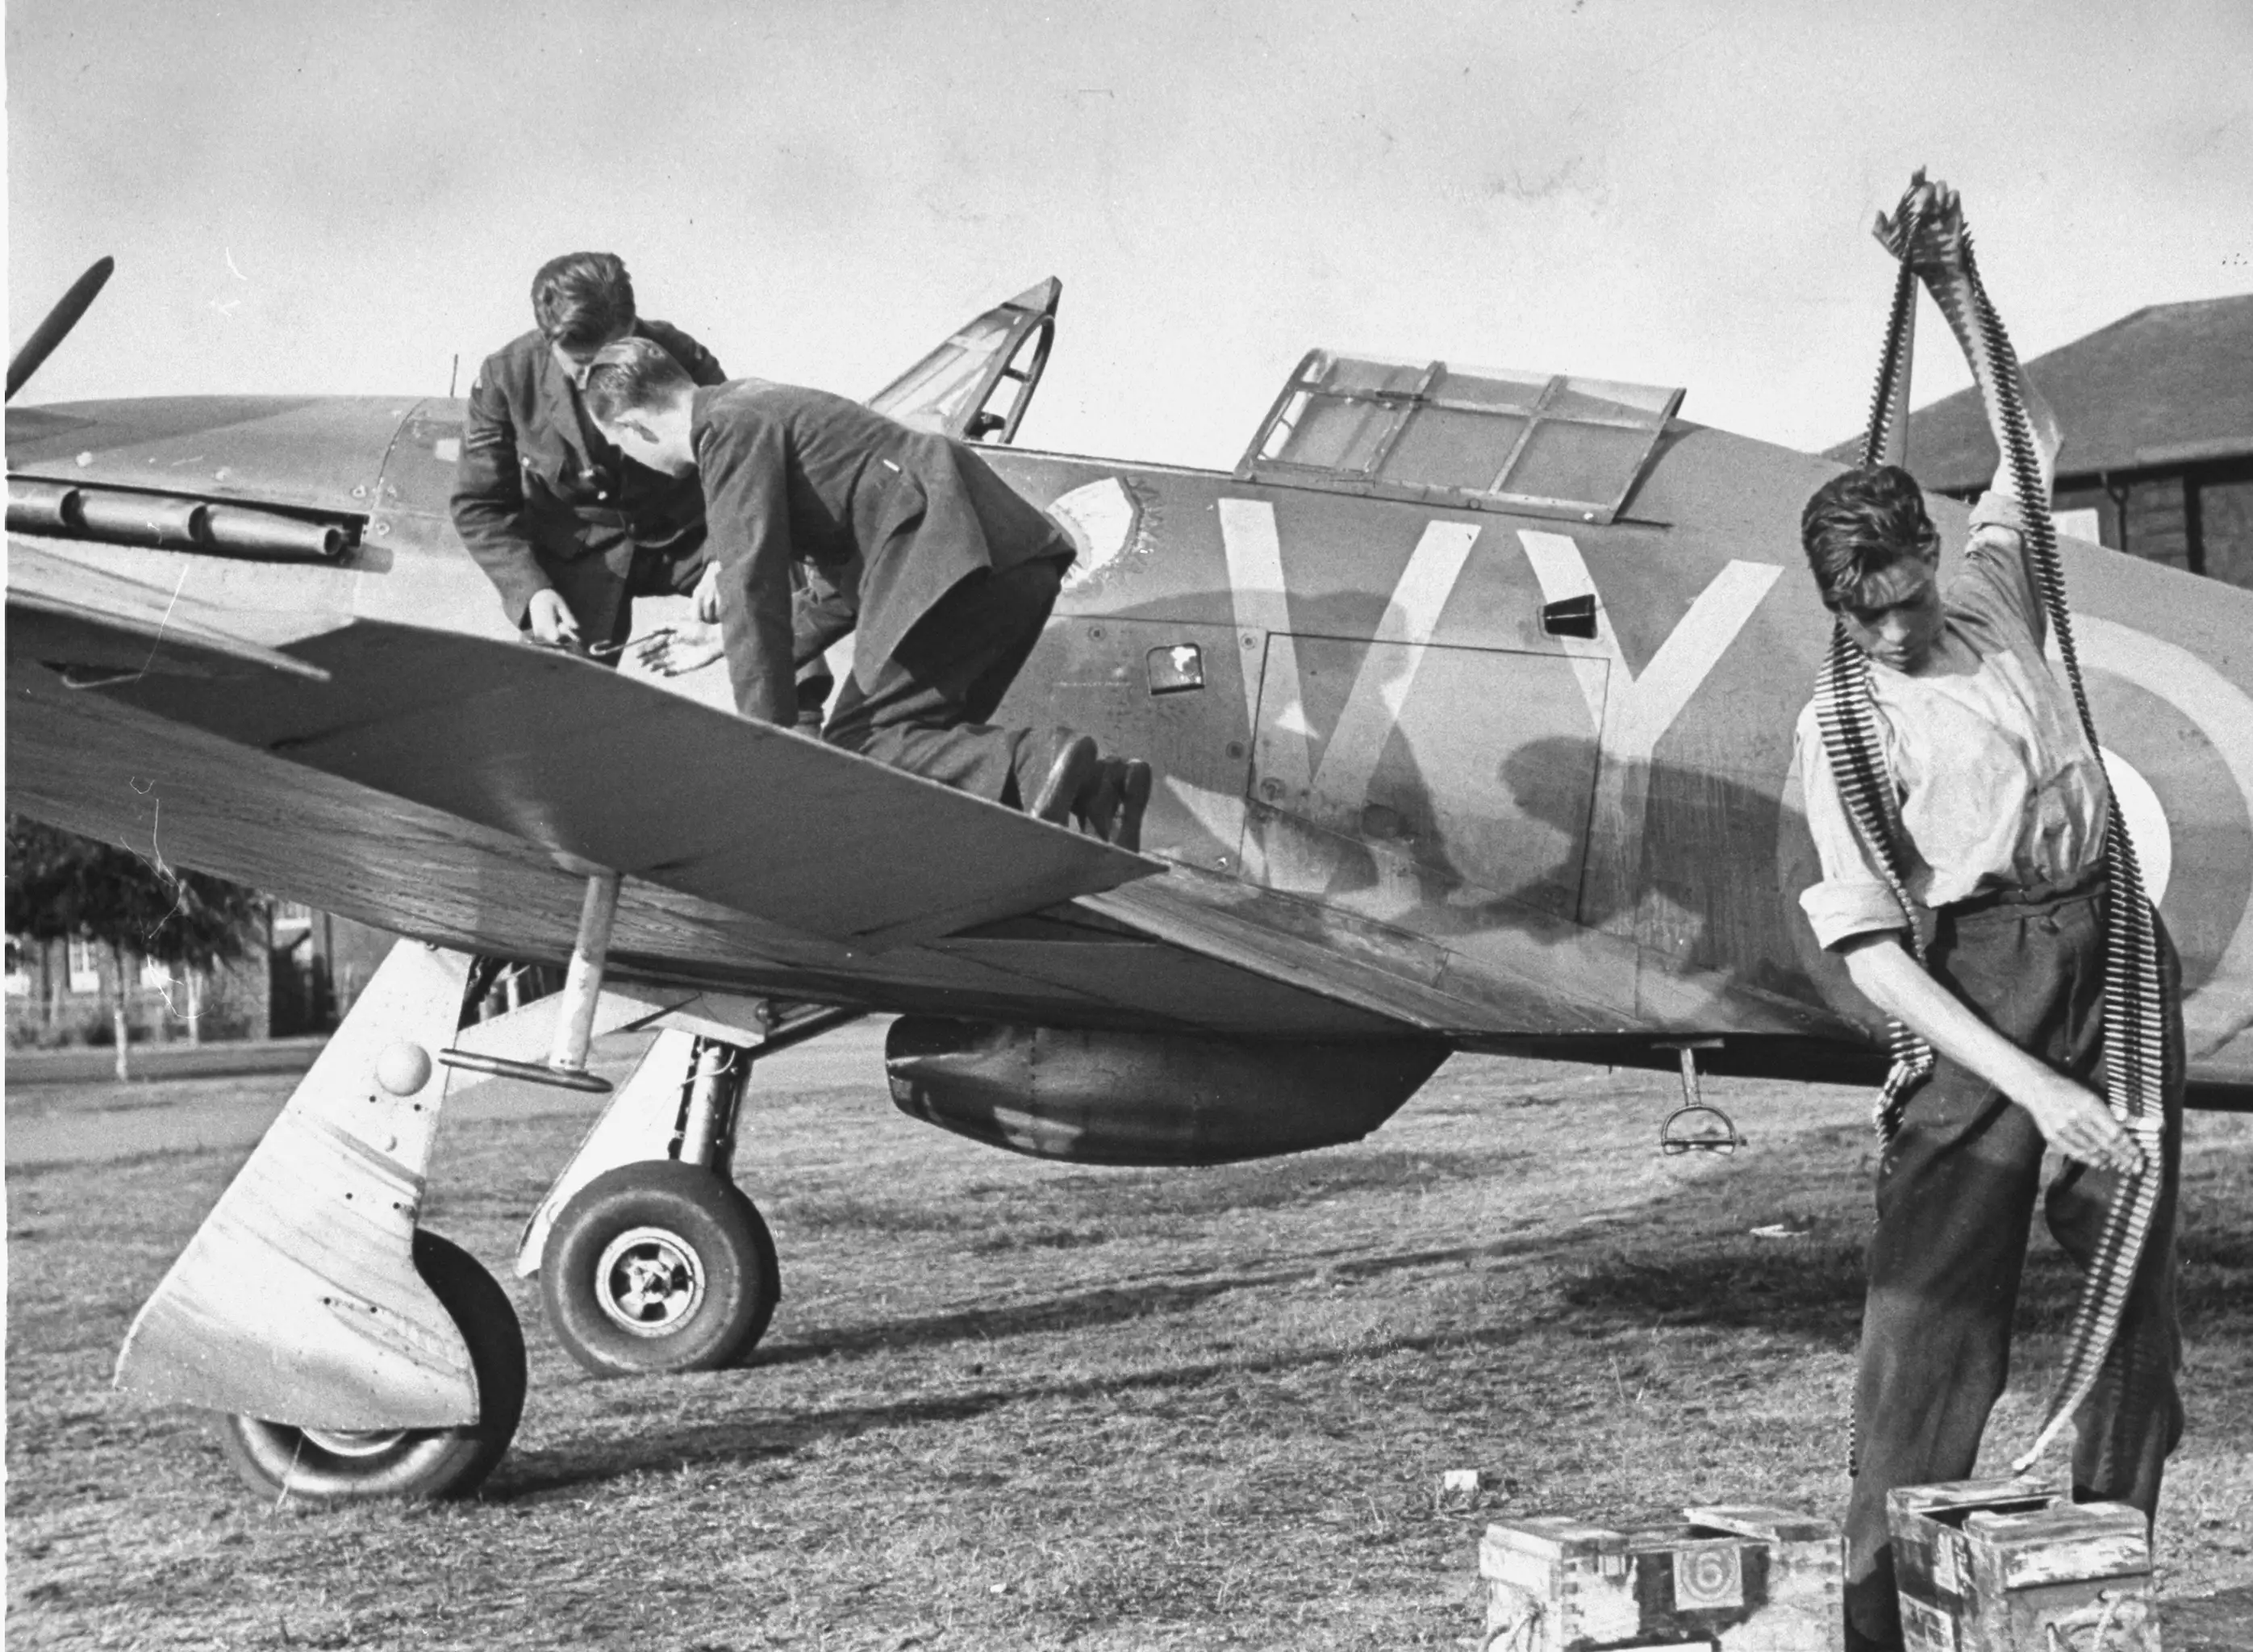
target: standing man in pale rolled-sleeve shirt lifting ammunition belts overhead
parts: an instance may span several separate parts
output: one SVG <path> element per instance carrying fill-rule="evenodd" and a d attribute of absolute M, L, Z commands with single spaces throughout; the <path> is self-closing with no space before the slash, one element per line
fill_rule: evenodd
<path fill-rule="evenodd" d="M 1879 221 L 1895 255 L 1902 237 L 1902 223 Z M 1962 216 L 1947 185 L 1933 185 L 1911 252 L 1969 354 Z M 2043 419 L 2023 376 L 2021 394 Z M 2048 469 L 2055 437 L 2043 446 Z M 1870 656 L 1872 721 L 1915 911 L 1902 911 L 1847 818 L 1814 705 L 1800 717 L 1798 762 L 1823 881 L 1800 906 L 1816 940 L 1845 956 L 1854 985 L 1938 1055 L 1877 1170 L 1854 1395 L 1847 1647 L 1899 1647 L 1886 1492 L 1974 1469 L 2010 1375 L 2010 1321 L 2043 1145 L 2068 1161 L 2048 1190 L 2048 1224 L 2082 1267 L 2118 1172 L 2140 1163 L 2089 1089 L 2102 1062 L 2109 791 L 2073 699 L 2043 658 L 2048 622 L 2007 464 L 1974 509 L 1971 543 L 1944 588 L 1940 536 L 1899 467 L 1825 482 L 1807 500 L 1800 536 L 1825 606 Z M 1931 974 L 1902 944 L 1911 924 L 1931 926 Z M 2073 1454 L 2077 1499 L 2127 1501 L 2145 1515 L 2183 1431 L 2174 1386 L 2183 1068 L 2174 969 L 2170 949 L 2158 1213 L 2107 1377 L 2075 1415 Z"/>

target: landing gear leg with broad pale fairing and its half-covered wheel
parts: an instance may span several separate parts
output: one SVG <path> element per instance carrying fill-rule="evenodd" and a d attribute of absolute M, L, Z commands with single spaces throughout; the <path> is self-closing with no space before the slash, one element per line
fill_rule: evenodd
<path fill-rule="evenodd" d="M 507 1294 L 417 1228 L 469 958 L 392 947 L 133 1321 L 117 1384 L 221 1413 L 259 1494 L 460 1496 L 507 1451 Z"/>

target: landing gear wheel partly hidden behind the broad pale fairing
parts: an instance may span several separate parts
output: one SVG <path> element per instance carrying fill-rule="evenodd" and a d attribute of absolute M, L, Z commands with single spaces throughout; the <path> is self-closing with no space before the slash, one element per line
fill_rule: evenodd
<path fill-rule="evenodd" d="M 525 1413 L 525 1334 L 507 1291 L 435 1233 L 415 1235 L 415 1271 L 469 1343 L 478 1420 L 460 1429 L 300 1429 L 219 1418 L 219 1445 L 264 1499 L 327 1508 L 374 1499 L 466 1496 L 500 1463 Z"/>

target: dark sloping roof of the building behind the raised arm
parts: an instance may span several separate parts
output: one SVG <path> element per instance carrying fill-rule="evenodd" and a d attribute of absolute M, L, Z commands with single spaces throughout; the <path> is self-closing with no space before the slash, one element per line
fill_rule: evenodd
<path fill-rule="evenodd" d="M 2253 453 L 2253 293 L 2149 304 L 2025 372 L 2066 428 L 2059 476 Z M 1854 437 L 1829 458 L 1852 462 L 1859 451 Z M 1976 388 L 1908 415 L 1908 469 L 1926 487 L 1980 487 L 1994 462 Z"/>

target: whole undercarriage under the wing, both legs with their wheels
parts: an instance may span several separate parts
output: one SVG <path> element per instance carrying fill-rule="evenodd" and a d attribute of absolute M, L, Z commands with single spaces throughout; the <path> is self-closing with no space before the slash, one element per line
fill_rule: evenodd
<path fill-rule="evenodd" d="M 617 883 L 588 872 L 554 1003 L 475 1028 L 464 953 L 392 947 L 135 1316 L 117 1384 L 219 1413 L 261 1496 L 462 1496 L 509 1447 L 516 1312 L 466 1251 L 419 1228 L 446 1068 L 608 1091 L 586 1071 L 590 1039 L 665 1028 L 534 1215 L 518 1273 L 547 1264 L 556 1334 L 606 1375 L 707 1370 L 766 1330 L 775 1246 L 730 1176 L 753 1057 L 861 1012 L 604 989 Z"/>

